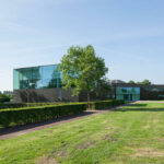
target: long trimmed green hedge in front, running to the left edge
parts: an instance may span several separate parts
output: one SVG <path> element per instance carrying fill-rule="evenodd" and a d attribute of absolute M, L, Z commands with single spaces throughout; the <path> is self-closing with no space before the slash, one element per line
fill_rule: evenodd
<path fill-rule="evenodd" d="M 86 110 L 86 103 L 0 110 L 0 128 L 37 122 Z"/>

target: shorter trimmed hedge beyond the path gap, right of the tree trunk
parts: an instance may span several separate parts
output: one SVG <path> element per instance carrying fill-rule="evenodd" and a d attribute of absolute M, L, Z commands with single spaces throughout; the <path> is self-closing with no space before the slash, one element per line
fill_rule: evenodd
<path fill-rule="evenodd" d="M 98 101 L 98 102 L 91 102 L 90 108 L 91 109 L 104 109 L 110 108 L 119 105 L 124 105 L 125 101 Z"/>

